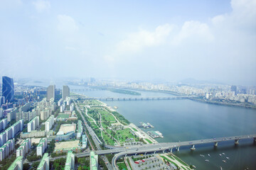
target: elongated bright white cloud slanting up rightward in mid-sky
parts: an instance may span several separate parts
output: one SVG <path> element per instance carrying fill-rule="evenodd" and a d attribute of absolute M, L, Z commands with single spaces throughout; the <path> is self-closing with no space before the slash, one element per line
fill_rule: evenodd
<path fill-rule="evenodd" d="M 172 26 L 165 24 L 158 26 L 153 32 L 139 30 L 137 33 L 131 33 L 126 40 L 117 44 L 117 52 L 138 52 L 144 47 L 159 45 L 166 40 L 171 30 Z"/>

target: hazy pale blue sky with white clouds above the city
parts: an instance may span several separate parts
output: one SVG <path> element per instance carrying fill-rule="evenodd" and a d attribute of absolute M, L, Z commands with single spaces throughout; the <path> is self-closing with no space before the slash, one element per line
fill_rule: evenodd
<path fill-rule="evenodd" d="M 256 0 L 0 0 L 0 76 L 256 85 Z"/>

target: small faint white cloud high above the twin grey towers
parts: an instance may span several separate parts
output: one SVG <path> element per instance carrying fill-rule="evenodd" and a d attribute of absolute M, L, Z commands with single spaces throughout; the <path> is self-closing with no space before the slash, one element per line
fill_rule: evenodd
<path fill-rule="evenodd" d="M 58 30 L 65 33 L 72 33 L 77 31 L 78 25 L 71 16 L 58 15 Z"/>

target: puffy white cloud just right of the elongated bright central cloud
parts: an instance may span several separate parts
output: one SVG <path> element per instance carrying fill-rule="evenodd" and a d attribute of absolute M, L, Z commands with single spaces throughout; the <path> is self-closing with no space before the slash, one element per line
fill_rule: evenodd
<path fill-rule="evenodd" d="M 186 21 L 178 34 L 174 36 L 172 40 L 173 45 L 179 45 L 186 39 L 191 38 L 193 40 L 207 40 L 214 39 L 213 34 L 206 23 L 200 23 L 198 21 Z"/>

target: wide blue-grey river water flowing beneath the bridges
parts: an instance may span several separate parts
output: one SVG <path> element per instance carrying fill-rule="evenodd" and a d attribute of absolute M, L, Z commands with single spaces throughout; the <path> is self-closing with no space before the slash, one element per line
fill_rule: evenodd
<path fill-rule="evenodd" d="M 78 87 L 70 86 L 70 89 Z M 171 96 L 149 91 L 139 92 L 142 96 Z M 136 97 L 111 91 L 79 93 L 90 97 Z M 191 100 L 103 102 L 112 107 L 117 106 L 117 111 L 135 125 L 139 125 L 139 122 L 154 125 L 153 130 L 159 130 L 164 135 L 164 138 L 156 139 L 158 142 L 256 134 L 255 109 L 219 106 Z M 256 169 L 256 145 L 252 140 L 241 140 L 238 146 L 233 142 L 220 142 L 217 148 L 214 148 L 213 144 L 198 145 L 193 152 L 189 147 L 185 147 L 174 153 L 187 164 L 193 164 L 202 170 L 220 169 L 220 166 L 223 170 Z M 219 154 L 223 156 L 220 157 Z M 209 162 L 206 162 L 206 159 Z M 226 160 L 226 163 L 223 163 L 223 160 Z"/>

